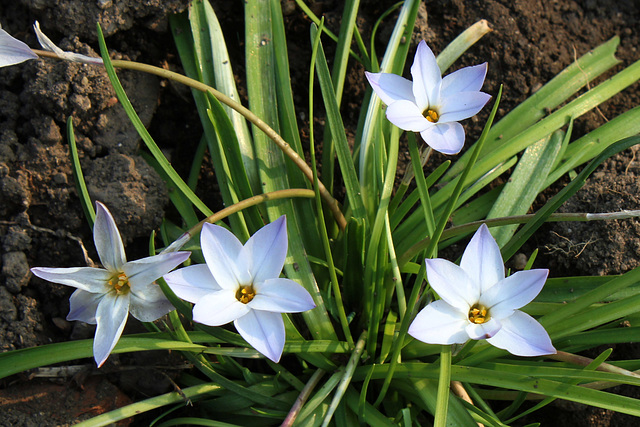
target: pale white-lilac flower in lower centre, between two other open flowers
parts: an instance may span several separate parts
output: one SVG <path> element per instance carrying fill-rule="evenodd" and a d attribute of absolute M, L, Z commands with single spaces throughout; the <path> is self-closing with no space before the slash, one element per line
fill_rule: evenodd
<path fill-rule="evenodd" d="M 306 289 L 279 277 L 288 247 L 286 218 L 262 227 L 244 246 L 225 228 L 204 224 L 200 242 L 206 264 L 165 275 L 167 284 L 195 303 L 195 322 L 220 326 L 233 321 L 253 348 L 278 362 L 285 341 L 281 313 L 315 307 Z"/>

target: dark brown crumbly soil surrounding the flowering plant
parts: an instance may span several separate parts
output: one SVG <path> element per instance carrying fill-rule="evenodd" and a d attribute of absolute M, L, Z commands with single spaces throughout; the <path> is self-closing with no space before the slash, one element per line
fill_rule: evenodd
<path fill-rule="evenodd" d="M 212 3 L 226 34 L 242 93 L 242 4 Z M 309 3 L 317 14 L 325 15 L 326 25 L 337 33 L 342 2 Z M 393 3 L 395 0 L 361 1 L 358 25 L 365 37 Z M 37 19 L 43 31 L 64 50 L 93 56 L 97 56 L 95 22 L 99 20 L 114 58 L 179 70 L 167 14 L 183 11 L 187 4 L 187 0 L 3 1 L 0 17 L 3 29 L 32 47 L 38 46 L 31 30 Z M 300 117 L 308 117 L 310 21 L 292 1 L 283 1 L 283 5 L 295 102 L 299 111 L 305 113 Z M 488 20 L 493 31 L 473 46 L 454 69 L 489 62 L 483 90 L 495 94 L 500 84 L 505 87 L 499 116 L 533 94 L 576 57 L 611 37 L 620 37 L 616 56 L 622 65 L 616 70 L 640 56 L 637 51 L 640 4 L 634 0 L 429 1 L 421 9 L 411 43 L 416 45 L 425 39 L 436 53 L 440 52 L 456 35 L 480 19 Z M 383 22 L 378 32 L 379 52 L 383 51 L 392 22 L 393 15 Z M 325 47 L 327 56 L 331 57 L 331 43 L 327 40 Z M 362 66 L 351 64 L 343 100 L 348 132 L 355 130 L 366 90 L 363 71 Z M 133 72 L 120 72 L 120 77 L 156 142 L 172 157 L 179 172 L 186 173 L 188 166 L 180 160 L 189 159 L 201 132 L 188 92 L 166 81 Z M 573 138 L 639 104 L 635 84 L 604 103 L 599 111 L 588 112 L 577 120 Z M 477 138 L 487 114 L 485 111 L 465 122 L 468 141 Z M 171 214 L 168 192 L 160 177 L 140 156 L 139 138 L 100 68 L 36 60 L 0 69 L 0 351 L 93 335 L 86 325 L 64 320 L 69 309 L 69 288 L 35 279 L 29 273 L 32 266 L 86 265 L 85 250 L 91 259 L 97 259 L 71 174 L 65 136 L 69 117 L 73 118 L 90 194 L 110 208 L 125 236 L 130 258 L 145 255 L 151 231 L 158 229 L 166 212 Z M 322 117 L 317 120 L 322 123 Z M 301 119 L 300 125 L 305 129 L 308 123 L 305 125 Z M 408 153 L 401 153 L 401 163 L 407 159 Z M 441 160 L 442 157 L 435 156 L 432 162 Z M 562 209 L 567 212 L 639 209 L 639 173 L 636 150 L 621 153 L 598 169 Z M 212 178 L 206 164 L 202 177 L 205 181 Z M 198 193 L 212 208 L 219 206 L 215 186 L 199 187 Z M 546 196 L 538 203 L 543 203 Z M 544 227 L 534 237 L 532 244 L 543 252 L 540 265 L 548 266 L 555 276 L 620 274 L 636 267 L 640 260 L 638 220 L 560 223 Z M 135 328 L 132 320 L 129 322 Z M 635 350 L 626 356 L 640 357 Z M 620 351 L 630 350 L 621 347 Z M 49 382 L 29 380 L 26 375 L 9 378 L 0 390 L 0 425 L 72 424 L 77 419 L 95 415 L 96 411 L 122 406 L 127 399 L 139 400 L 145 395 L 170 390 L 168 380 L 155 381 L 155 387 L 149 388 L 140 382 L 143 380 L 127 383 L 123 381 L 127 375 L 117 374 L 131 366 L 166 363 L 161 357 L 149 357 L 112 355 L 106 368 L 97 372 L 92 360 L 82 361 L 87 371 L 98 374 L 99 380 L 78 381 L 77 376 L 75 382 L 58 380 L 62 384 L 60 390 L 73 393 L 83 386 L 85 390 L 107 387 L 107 391 L 95 393 L 97 403 L 79 402 L 77 408 L 68 411 L 67 418 L 49 415 L 66 413 L 54 400 L 64 393 L 52 392 Z M 103 384 L 105 381 L 107 385 Z M 124 395 L 114 405 L 119 393 Z M 67 399 L 71 396 L 64 395 Z M 105 396 L 108 399 L 105 400 Z M 40 400 L 34 403 L 33 399 Z M 33 415 L 35 412 L 27 405 L 35 405 L 43 415 Z M 87 412 L 87 407 L 94 408 L 93 412 Z M 564 425 L 576 426 L 636 425 L 631 417 L 583 407 L 569 411 L 552 406 L 545 413 L 535 414 L 531 421 L 540 417 L 543 425 L 558 425 L 559 420 Z M 544 417 L 548 417 L 547 422 Z M 144 424 L 138 422 L 134 420 L 133 425 Z"/>

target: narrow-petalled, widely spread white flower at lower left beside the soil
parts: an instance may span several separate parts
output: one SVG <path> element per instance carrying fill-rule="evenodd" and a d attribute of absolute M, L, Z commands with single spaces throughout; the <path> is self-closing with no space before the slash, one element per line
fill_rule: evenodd
<path fill-rule="evenodd" d="M 67 320 L 97 324 L 93 357 L 98 367 L 107 360 L 122 335 L 129 312 L 142 322 L 152 322 L 173 306 L 154 283 L 189 258 L 190 252 L 174 252 L 127 262 L 122 238 L 111 213 L 96 203 L 93 240 L 104 268 L 35 267 L 41 279 L 72 286 Z"/>

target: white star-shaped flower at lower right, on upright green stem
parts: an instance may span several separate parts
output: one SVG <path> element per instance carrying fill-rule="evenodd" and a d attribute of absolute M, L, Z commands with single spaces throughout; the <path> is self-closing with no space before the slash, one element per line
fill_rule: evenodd
<path fill-rule="evenodd" d="M 460 266 L 440 258 L 426 263 L 429 284 L 442 299 L 418 313 L 409 335 L 428 344 L 486 339 L 516 356 L 556 353 L 542 325 L 518 310 L 540 293 L 549 270 L 505 278 L 500 248 L 486 225 L 469 242 Z"/>

